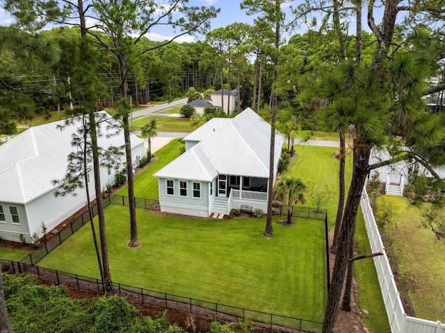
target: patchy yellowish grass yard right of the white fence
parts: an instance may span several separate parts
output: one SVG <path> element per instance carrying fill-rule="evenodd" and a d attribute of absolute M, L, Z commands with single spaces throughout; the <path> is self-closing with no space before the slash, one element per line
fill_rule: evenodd
<path fill-rule="evenodd" d="M 431 204 L 416 208 L 404 197 L 379 197 L 390 202 L 394 213 L 385 226 L 396 254 L 401 273 L 414 274 L 419 288 L 409 293 L 418 318 L 445 322 L 445 245 L 438 243 L 429 227 L 423 227 L 423 214 Z M 443 216 L 443 213 L 442 213 Z"/>

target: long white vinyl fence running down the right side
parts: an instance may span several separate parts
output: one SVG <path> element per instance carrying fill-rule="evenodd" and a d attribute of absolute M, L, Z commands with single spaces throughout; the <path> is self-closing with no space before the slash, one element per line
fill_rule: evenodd
<path fill-rule="evenodd" d="M 445 333 L 445 325 L 440 321 L 433 322 L 407 316 L 403 310 L 400 295 L 397 290 L 394 275 L 392 274 L 389 260 L 385 252 L 385 247 L 380 237 L 377 224 L 371 204 L 369 203 L 368 193 L 363 189 L 362 212 L 366 230 L 368 232 L 369 244 L 371 251 L 382 252 L 382 256 L 373 257 L 375 269 L 377 270 L 378 279 L 380 282 L 380 289 L 382 290 L 383 300 L 387 309 L 389 325 L 392 333 Z"/>

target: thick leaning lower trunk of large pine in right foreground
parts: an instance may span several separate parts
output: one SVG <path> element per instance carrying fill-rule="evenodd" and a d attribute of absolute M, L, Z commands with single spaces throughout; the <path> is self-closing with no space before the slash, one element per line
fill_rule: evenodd
<path fill-rule="evenodd" d="M 330 290 L 327 294 L 325 318 L 323 320 L 323 333 L 334 332 L 341 289 L 343 287 L 346 268 L 348 267 L 350 244 L 354 242 L 357 211 L 360 198 L 362 197 L 364 182 L 368 175 L 370 153 L 371 146 L 369 145 L 355 145 L 354 147 L 353 177 L 350 182 L 346 209 L 343 213 L 343 223 L 341 224 L 339 244 L 335 255 L 334 268 L 332 270 Z"/>

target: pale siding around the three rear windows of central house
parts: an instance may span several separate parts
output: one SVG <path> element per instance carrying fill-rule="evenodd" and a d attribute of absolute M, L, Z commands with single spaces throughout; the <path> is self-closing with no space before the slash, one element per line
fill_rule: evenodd
<path fill-rule="evenodd" d="M 178 213 L 191 216 L 209 217 L 209 183 L 190 181 L 184 179 L 172 179 L 174 182 L 174 195 L 167 195 L 165 178 L 159 178 L 159 205 L 161 211 Z M 187 182 L 187 197 L 179 196 L 179 181 Z M 193 183 L 200 183 L 200 199 L 193 197 Z"/>

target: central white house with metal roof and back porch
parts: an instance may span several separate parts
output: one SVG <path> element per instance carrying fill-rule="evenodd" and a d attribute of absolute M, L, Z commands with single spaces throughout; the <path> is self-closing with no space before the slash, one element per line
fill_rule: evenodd
<path fill-rule="evenodd" d="M 209 217 L 241 205 L 267 212 L 270 125 L 247 108 L 184 138 L 186 152 L 154 174 L 161 211 Z M 284 136 L 275 133 L 274 179 Z"/>

